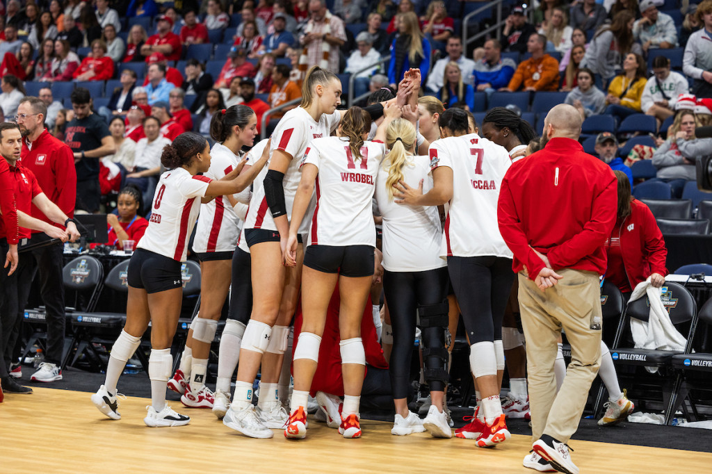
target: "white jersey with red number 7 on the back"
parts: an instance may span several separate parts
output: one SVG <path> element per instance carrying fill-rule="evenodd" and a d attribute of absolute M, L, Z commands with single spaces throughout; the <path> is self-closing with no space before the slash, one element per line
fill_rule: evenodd
<path fill-rule="evenodd" d="M 499 189 L 512 164 L 506 149 L 476 133 L 430 145 L 430 168 L 449 167 L 453 194 L 440 256 L 512 258 L 497 223 Z"/>

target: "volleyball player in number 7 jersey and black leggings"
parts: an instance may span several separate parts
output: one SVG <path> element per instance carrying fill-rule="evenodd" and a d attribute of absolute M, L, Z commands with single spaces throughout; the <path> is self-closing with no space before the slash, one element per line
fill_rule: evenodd
<path fill-rule="evenodd" d="M 477 446 L 495 446 L 510 438 L 499 399 L 504 370 L 502 317 L 512 288 L 512 253 L 497 225 L 501 181 L 511 165 L 506 150 L 476 134 L 467 134 L 467 115 L 449 109 L 440 116 L 441 138 L 431 144 L 434 186 L 422 194 L 404 181 L 395 184 L 396 202 L 435 206 L 450 203 L 441 256 L 470 341 L 470 368 L 481 393 L 481 409 L 466 427 Z M 473 238 L 477 236 L 477 238 Z"/>

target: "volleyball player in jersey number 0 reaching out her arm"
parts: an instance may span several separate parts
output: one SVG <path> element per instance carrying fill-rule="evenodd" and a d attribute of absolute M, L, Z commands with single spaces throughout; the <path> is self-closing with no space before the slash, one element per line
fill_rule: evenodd
<path fill-rule="evenodd" d="M 91 396 L 99 411 L 109 418 L 121 418 L 116 384 L 150 322 L 152 349 L 148 372 L 152 404 L 144 422 L 153 427 L 189 423 L 190 418 L 177 414 L 166 404 L 165 393 L 173 365 L 170 346 L 182 304 L 181 264 L 186 260 L 187 241 L 201 201 L 242 191 L 266 161 L 264 154 L 246 174 L 238 176 L 242 169 L 239 166 L 216 181 L 199 175 L 210 168 L 210 147 L 201 135 L 182 133 L 164 147 L 161 163 L 169 171 L 159 179 L 149 226 L 129 263 L 126 324 L 112 347 L 105 382 Z"/>

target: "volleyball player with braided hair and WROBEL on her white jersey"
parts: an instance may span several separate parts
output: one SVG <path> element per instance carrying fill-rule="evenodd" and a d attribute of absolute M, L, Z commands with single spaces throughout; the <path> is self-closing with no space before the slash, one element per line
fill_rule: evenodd
<path fill-rule="evenodd" d="M 370 115 L 360 107 L 351 107 L 341 121 L 337 137 L 314 139 L 302 160 L 302 177 L 284 253 L 290 267 L 298 263 L 300 223 L 307 214 L 314 189 L 317 202 L 303 257 L 303 322 L 294 349 L 294 390 L 284 430 L 286 438 L 306 436 L 309 389 L 316 372 L 329 301 L 337 283 L 344 381 L 339 433 L 344 438 L 361 436 L 359 404 L 366 369 L 361 318 L 371 289 L 376 246 L 372 198 L 385 154 L 383 130 L 392 117 L 400 114 L 399 107 L 388 107 L 384 112 L 386 119 L 379 125 L 376 141 L 364 141 L 371 128 Z"/>

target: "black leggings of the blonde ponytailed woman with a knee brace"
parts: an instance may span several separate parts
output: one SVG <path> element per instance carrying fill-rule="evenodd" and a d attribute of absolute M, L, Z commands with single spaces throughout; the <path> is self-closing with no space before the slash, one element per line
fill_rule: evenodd
<path fill-rule="evenodd" d="M 436 305 L 447 297 L 447 268 L 423 272 L 389 272 L 383 274 L 383 291 L 391 315 L 393 350 L 389 374 L 394 399 L 407 398 L 410 385 L 410 364 L 415 340 L 417 308 Z M 444 347 L 444 330 L 424 328 L 424 347 Z M 430 389 L 442 391 L 442 381 L 428 381 Z"/>

